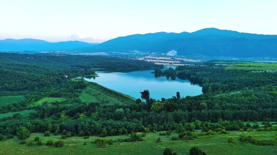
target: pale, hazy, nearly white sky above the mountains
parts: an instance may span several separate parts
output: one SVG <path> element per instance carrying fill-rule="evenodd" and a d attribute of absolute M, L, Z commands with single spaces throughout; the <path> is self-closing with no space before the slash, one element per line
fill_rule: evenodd
<path fill-rule="evenodd" d="M 104 42 L 218 28 L 277 35 L 276 0 L 0 0 L 0 39 Z"/>

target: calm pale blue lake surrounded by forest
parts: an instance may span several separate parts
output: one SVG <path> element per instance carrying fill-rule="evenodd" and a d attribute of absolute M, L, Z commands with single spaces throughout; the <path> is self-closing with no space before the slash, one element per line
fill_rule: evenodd
<path fill-rule="evenodd" d="M 169 67 L 165 66 L 164 69 Z M 175 67 L 172 67 L 175 68 Z M 149 90 L 150 97 L 161 100 L 176 96 L 180 92 L 181 97 L 196 96 L 202 94 L 202 87 L 191 85 L 188 80 L 178 77 L 166 76 L 155 77 L 154 70 L 118 70 L 118 71 L 96 71 L 99 77 L 84 78 L 87 81 L 96 82 L 112 90 L 121 92 L 134 98 L 141 98 L 141 91 Z"/>

